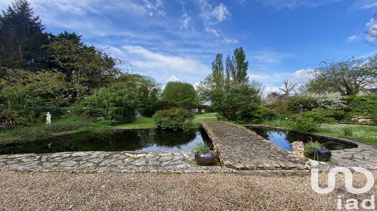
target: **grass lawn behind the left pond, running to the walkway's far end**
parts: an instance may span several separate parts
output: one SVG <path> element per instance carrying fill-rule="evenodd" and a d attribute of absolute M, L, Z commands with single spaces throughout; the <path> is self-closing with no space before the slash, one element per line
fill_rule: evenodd
<path fill-rule="evenodd" d="M 199 126 L 200 122 L 209 122 L 209 121 L 217 121 L 216 113 L 206 113 L 206 114 L 195 114 L 195 119 L 192 122 L 192 126 L 196 127 Z M 59 125 L 73 125 L 77 123 L 82 123 L 83 127 L 78 127 L 75 129 L 66 129 L 65 127 L 61 127 L 62 130 L 59 132 L 53 133 L 54 136 L 60 136 L 60 135 L 67 135 L 72 133 L 78 133 L 78 132 L 86 132 L 86 131 L 99 131 L 99 130 L 109 130 L 109 129 L 138 129 L 138 128 L 155 128 L 155 124 L 153 121 L 153 118 L 148 117 L 142 117 L 137 118 L 135 122 L 129 123 L 129 124 L 122 124 L 122 125 L 114 125 L 109 126 L 106 124 L 101 123 L 92 123 L 86 120 L 83 120 L 82 118 L 71 115 L 66 118 L 60 118 L 58 120 L 52 120 L 51 125 L 46 125 L 44 123 L 39 123 L 34 126 L 28 127 L 30 129 L 48 129 L 49 127 L 53 126 L 59 126 Z M 67 127 L 69 128 L 69 127 Z M 23 128 L 15 128 L 12 130 L 6 130 L 0 132 L 0 144 L 7 144 L 12 142 L 20 142 L 20 138 L 17 136 L 14 136 L 14 132 L 19 131 Z"/>

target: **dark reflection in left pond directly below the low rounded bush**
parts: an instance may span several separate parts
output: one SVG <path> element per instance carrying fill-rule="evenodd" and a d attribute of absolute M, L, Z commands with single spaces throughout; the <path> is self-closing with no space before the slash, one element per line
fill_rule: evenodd
<path fill-rule="evenodd" d="M 196 129 L 189 129 L 187 131 L 154 130 L 152 139 L 158 147 L 176 147 L 180 150 L 182 145 L 189 144 L 196 139 L 197 133 Z"/>

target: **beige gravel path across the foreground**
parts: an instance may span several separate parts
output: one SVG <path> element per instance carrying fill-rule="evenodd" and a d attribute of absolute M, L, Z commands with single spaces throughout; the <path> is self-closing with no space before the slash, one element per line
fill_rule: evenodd
<path fill-rule="evenodd" d="M 364 177 L 354 177 L 354 186 L 363 186 Z M 346 199 L 360 204 L 377 190 L 350 194 L 340 175 L 334 191 L 324 195 L 312 191 L 310 175 L 0 171 L 0 178 L 0 210 L 334 210 L 338 195 L 344 207 Z"/>

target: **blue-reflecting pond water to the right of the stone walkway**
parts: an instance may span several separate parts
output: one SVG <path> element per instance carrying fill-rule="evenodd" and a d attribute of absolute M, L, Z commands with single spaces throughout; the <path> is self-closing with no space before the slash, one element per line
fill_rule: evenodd
<path fill-rule="evenodd" d="M 287 151 L 293 151 L 292 143 L 295 141 L 302 141 L 305 143 L 310 141 L 309 136 L 296 133 L 296 132 L 286 132 L 284 130 L 276 130 L 276 129 L 264 129 L 264 128 L 249 128 L 250 130 L 254 131 L 259 136 L 269 140 L 273 144 L 277 145 L 281 149 Z M 318 141 L 323 145 L 323 147 L 327 148 L 328 150 L 341 150 L 341 149 L 350 149 L 355 148 L 353 145 L 344 144 L 341 142 L 337 142 L 334 140 L 312 137 L 313 142 Z"/>

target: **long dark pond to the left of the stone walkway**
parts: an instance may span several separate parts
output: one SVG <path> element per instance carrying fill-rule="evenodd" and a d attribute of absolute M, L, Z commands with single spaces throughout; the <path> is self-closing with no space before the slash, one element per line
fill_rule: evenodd
<path fill-rule="evenodd" d="M 0 148 L 0 154 L 43 154 L 74 151 L 183 151 L 193 150 L 196 143 L 203 143 L 207 139 L 205 132 L 203 134 L 200 129 L 187 131 L 135 129 L 88 132 L 38 143 L 7 145 Z"/>

